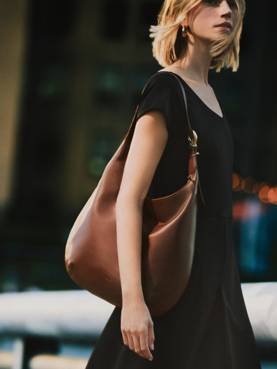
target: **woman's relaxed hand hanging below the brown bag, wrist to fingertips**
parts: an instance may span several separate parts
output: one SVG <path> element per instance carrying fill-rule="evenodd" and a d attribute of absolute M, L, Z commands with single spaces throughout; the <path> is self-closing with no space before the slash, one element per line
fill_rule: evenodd
<path fill-rule="evenodd" d="M 150 350 L 154 350 L 154 329 L 145 302 L 123 305 L 121 313 L 123 342 L 142 358 L 153 360 Z"/>

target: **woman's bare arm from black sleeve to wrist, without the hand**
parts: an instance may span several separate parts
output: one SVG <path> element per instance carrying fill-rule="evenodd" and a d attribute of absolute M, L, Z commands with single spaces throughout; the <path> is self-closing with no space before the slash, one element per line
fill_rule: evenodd
<path fill-rule="evenodd" d="M 123 303 L 144 303 L 141 287 L 143 202 L 167 138 L 166 118 L 162 111 L 152 110 L 137 121 L 116 202 L 117 251 Z"/>

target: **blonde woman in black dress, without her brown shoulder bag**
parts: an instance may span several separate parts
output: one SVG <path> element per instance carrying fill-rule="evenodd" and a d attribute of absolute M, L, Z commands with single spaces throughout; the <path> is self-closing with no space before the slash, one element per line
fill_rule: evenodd
<path fill-rule="evenodd" d="M 165 68 L 144 90 L 117 198 L 123 307 L 115 308 L 87 368 L 260 368 L 232 248 L 233 144 L 207 80 L 209 68 L 237 69 L 244 9 L 244 0 L 165 0 L 151 27 L 153 54 Z M 151 319 L 140 275 L 143 201 L 176 192 L 188 176 L 182 92 L 168 72 L 187 95 L 206 204 L 198 199 L 188 286 L 168 313 Z"/>

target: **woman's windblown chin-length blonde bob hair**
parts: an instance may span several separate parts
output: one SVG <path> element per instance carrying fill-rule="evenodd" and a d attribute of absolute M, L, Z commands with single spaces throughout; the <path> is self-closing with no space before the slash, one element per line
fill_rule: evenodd
<path fill-rule="evenodd" d="M 167 67 L 174 63 L 185 50 L 187 38 L 182 37 L 180 23 L 191 14 L 202 0 L 165 0 L 158 15 L 158 25 L 150 27 L 150 37 L 154 38 L 153 56 L 158 63 Z M 230 35 L 211 46 L 212 62 L 210 68 L 232 68 L 235 72 L 239 66 L 239 40 L 242 33 L 242 20 L 245 1 L 234 0 L 237 4 L 239 18 Z"/>

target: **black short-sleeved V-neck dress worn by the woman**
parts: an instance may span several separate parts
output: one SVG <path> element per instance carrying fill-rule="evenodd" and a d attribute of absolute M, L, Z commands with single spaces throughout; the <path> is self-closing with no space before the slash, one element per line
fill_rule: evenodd
<path fill-rule="evenodd" d="M 87 369 L 260 369 L 232 246 L 233 143 L 228 121 L 182 81 L 191 127 L 198 135 L 199 179 L 195 254 L 188 286 L 166 314 L 153 318 L 153 361 L 123 344 L 121 310 L 115 308 Z M 157 198 L 187 182 L 188 141 L 182 92 L 168 72 L 147 85 L 137 119 L 151 109 L 167 117 L 168 142 L 148 196 Z"/>

